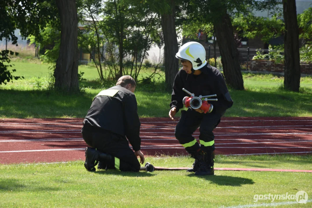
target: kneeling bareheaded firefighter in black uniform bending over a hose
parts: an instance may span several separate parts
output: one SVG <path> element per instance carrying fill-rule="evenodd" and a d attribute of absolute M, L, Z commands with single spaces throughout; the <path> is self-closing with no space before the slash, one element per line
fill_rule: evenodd
<path fill-rule="evenodd" d="M 140 121 L 134 95 L 136 83 L 131 76 L 122 76 L 116 86 L 95 96 L 83 121 L 81 133 L 91 147 L 85 148 L 85 168 L 139 171 L 144 155 L 140 151 Z M 129 142 L 134 152 L 129 147 Z"/>

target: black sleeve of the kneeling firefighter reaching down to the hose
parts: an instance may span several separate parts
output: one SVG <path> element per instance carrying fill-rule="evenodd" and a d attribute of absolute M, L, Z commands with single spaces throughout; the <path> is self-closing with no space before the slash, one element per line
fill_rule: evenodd
<path fill-rule="evenodd" d="M 133 93 L 128 94 L 124 103 L 124 129 L 127 139 L 134 151 L 141 149 L 140 120 L 138 104 Z"/>

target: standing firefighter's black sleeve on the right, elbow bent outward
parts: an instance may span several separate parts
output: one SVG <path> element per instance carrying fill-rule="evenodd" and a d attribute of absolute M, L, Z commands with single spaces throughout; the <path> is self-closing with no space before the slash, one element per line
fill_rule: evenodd
<path fill-rule="evenodd" d="M 218 75 L 214 80 L 214 91 L 217 92 L 218 101 L 208 101 L 208 103 L 213 105 L 213 112 L 224 113 L 226 109 L 232 107 L 233 100 L 222 75 Z"/>

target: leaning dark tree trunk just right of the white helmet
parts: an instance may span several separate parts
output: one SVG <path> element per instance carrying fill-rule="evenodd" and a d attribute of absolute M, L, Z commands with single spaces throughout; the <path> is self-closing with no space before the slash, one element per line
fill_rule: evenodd
<path fill-rule="evenodd" d="M 213 23 L 221 54 L 223 74 L 226 83 L 233 89 L 243 90 L 244 81 L 238 61 L 238 51 L 234 41 L 232 22 L 225 12 L 223 17 Z"/>

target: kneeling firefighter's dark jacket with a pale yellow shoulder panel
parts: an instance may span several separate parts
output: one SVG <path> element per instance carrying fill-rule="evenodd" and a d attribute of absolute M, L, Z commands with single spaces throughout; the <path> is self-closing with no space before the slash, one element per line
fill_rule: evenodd
<path fill-rule="evenodd" d="M 117 85 L 95 96 L 83 121 L 84 126 L 126 136 L 134 151 L 140 150 L 140 121 L 134 93 Z"/>

